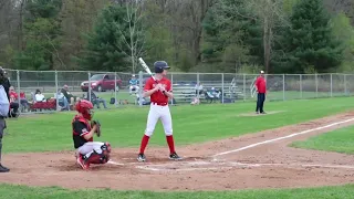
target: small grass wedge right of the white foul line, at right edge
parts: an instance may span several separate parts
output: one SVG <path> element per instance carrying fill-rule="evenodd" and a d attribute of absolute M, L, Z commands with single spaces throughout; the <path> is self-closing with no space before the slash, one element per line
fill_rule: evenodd
<path fill-rule="evenodd" d="M 354 154 L 354 126 L 314 136 L 304 142 L 294 142 L 290 146 L 296 148 Z"/>

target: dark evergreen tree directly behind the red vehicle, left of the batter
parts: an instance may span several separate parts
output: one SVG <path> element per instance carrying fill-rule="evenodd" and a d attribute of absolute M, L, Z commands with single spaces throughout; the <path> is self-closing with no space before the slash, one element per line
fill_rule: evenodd
<path fill-rule="evenodd" d="M 110 4 L 98 14 L 92 32 L 86 34 L 86 45 L 76 59 L 85 70 L 94 71 L 131 71 L 128 49 L 122 43 L 122 33 L 128 34 L 124 21 L 125 7 Z M 129 41 L 127 41 L 129 43 Z"/>

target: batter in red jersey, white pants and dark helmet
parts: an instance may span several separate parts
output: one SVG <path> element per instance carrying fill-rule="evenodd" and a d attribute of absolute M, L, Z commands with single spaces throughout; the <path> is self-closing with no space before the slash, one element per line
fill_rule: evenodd
<path fill-rule="evenodd" d="M 168 100 L 174 97 L 170 81 L 166 78 L 167 70 L 169 69 L 169 66 L 165 61 L 157 61 L 154 63 L 154 66 L 155 80 L 154 77 L 148 78 L 144 87 L 143 96 L 150 96 L 152 103 L 137 160 L 146 160 L 144 151 L 150 136 L 155 130 L 155 126 L 158 119 L 162 121 L 164 126 L 166 140 L 169 147 L 169 159 L 179 160 L 181 158 L 177 155 L 175 150 L 175 143 L 173 137 L 173 119 L 168 107 Z"/>

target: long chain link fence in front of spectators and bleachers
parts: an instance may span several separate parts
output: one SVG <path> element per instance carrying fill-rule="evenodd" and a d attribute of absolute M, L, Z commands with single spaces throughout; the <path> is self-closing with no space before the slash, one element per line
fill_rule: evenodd
<path fill-rule="evenodd" d="M 70 111 L 80 98 L 95 108 L 148 103 L 142 96 L 146 73 L 7 70 L 22 113 Z M 256 101 L 257 74 L 169 73 L 175 98 L 170 104 Z M 131 81 L 133 78 L 133 81 Z M 135 81 L 136 80 L 136 81 Z M 267 74 L 267 100 L 288 101 L 354 94 L 354 74 Z M 43 95 L 43 96 L 42 96 Z"/>

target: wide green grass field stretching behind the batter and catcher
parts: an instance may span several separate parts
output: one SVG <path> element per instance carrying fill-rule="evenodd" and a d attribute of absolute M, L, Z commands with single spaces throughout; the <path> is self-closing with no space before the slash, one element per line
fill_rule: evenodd
<path fill-rule="evenodd" d="M 173 125 L 176 145 L 240 136 L 284 125 L 336 114 L 351 108 L 352 98 L 323 98 L 266 103 L 266 111 L 284 111 L 260 117 L 242 117 L 253 113 L 254 103 L 207 104 L 173 106 Z M 138 147 L 146 125 L 148 107 L 96 111 L 94 118 L 102 124 L 103 136 L 113 147 Z M 71 121 L 74 112 L 21 116 L 8 119 L 3 140 L 4 153 L 71 150 Z M 152 145 L 165 146 L 162 124 L 158 123 Z"/>

